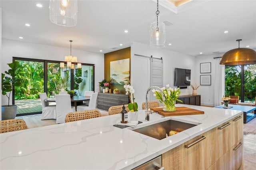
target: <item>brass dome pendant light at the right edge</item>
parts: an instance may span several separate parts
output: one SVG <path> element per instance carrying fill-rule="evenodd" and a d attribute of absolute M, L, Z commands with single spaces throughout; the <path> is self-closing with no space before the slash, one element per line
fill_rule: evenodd
<path fill-rule="evenodd" d="M 224 53 L 220 64 L 224 65 L 243 65 L 243 64 L 254 64 L 256 63 L 256 51 L 250 48 L 240 48 L 240 41 L 238 42 L 238 48 L 231 49 Z"/>

